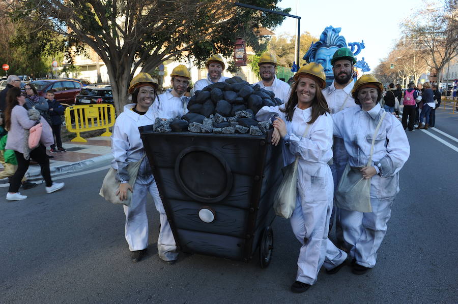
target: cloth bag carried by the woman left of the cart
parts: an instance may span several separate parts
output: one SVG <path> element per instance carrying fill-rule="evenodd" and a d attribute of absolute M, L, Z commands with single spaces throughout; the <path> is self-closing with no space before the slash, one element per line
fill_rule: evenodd
<path fill-rule="evenodd" d="M 132 161 L 127 164 L 127 172 L 129 173 L 129 184 L 132 186 L 132 189 L 135 184 L 135 180 L 137 179 L 138 169 L 140 168 L 140 164 L 145 158 L 145 155 L 139 161 Z M 112 204 L 117 205 L 126 205 L 130 207 L 130 200 L 132 199 L 132 192 L 127 190 L 127 199 L 121 200 L 118 195 L 116 195 L 116 191 L 119 188 L 121 182 L 116 179 L 118 171 L 111 167 L 108 170 L 105 178 L 103 179 L 102 187 L 100 188 L 99 195 L 105 198 L 107 201 L 111 202 Z"/>

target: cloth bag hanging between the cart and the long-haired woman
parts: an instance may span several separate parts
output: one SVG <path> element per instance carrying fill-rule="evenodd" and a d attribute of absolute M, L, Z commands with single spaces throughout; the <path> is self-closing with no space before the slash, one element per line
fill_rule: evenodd
<path fill-rule="evenodd" d="M 307 123 L 307 127 L 302 137 L 307 135 L 309 128 L 310 124 Z M 273 208 L 275 214 L 284 219 L 289 219 L 294 209 L 296 209 L 298 161 L 299 156 L 296 156 L 296 159 L 292 163 L 281 168 L 283 179 L 274 195 Z"/>

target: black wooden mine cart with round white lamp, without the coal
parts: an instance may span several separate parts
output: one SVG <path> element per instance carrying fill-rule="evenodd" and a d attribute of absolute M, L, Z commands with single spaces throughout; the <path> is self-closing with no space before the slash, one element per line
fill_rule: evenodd
<path fill-rule="evenodd" d="M 140 133 L 178 249 L 247 262 L 259 248 L 267 267 L 282 178 L 271 131 L 160 133 L 146 126 Z"/>

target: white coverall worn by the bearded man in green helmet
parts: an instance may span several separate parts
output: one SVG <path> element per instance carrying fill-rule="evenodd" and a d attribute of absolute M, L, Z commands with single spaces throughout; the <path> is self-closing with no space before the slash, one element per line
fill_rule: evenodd
<path fill-rule="evenodd" d="M 323 95 L 326 98 L 326 102 L 328 104 L 329 110 L 331 112 L 331 116 L 335 113 L 340 112 L 343 109 L 354 107 L 355 99 L 352 97 L 352 89 L 355 85 L 355 82 L 352 81 L 345 86 L 343 89 L 336 89 L 335 88 L 335 80 L 332 84 L 323 89 Z M 332 178 L 334 179 L 334 191 L 337 189 L 337 185 L 339 184 L 340 177 L 342 173 L 344 173 L 345 166 L 347 165 L 348 161 L 348 154 L 345 150 L 344 140 L 341 138 L 334 137 L 333 138 L 333 145 L 332 145 L 332 164 L 329 166 L 331 167 Z M 330 222 L 331 224 L 334 221 L 334 217 L 336 218 L 335 222 L 335 233 L 338 242 L 341 242 L 344 238 L 342 236 L 342 229 L 340 225 L 340 213 L 337 207 L 333 207 L 333 214 L 331 215 Z M 332 227 L 332 225 L 331 225 Z"/>

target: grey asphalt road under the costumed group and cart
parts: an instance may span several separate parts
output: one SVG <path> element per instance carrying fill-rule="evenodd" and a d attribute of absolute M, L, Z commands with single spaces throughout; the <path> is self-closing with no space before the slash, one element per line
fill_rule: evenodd
<path fill-rule="evenodd" d="M 448 112 L 438 110 L 436 127 L 458 138 L 458 114 Z M 41 185 L 23 191 L 26 200 L 0 201 L 0 303 L 456 303 L 458 151 L 426 132 L 408 132 L 411 156 L 377 265 L 366 275 L 347 266 L 336 275 L 322 271 L 306 293 L 291 293 L 300 244 L 279 218 L 266 269 L 257 258 L 184 253 L 168 265 L 157 255 L 153 204 L 149 254 L 134 264 L 122 208 L 98 195 L 104 170 L 66 178 L 52 194 Z M 3 198 L 7 188 L 1 191 Z"/>

